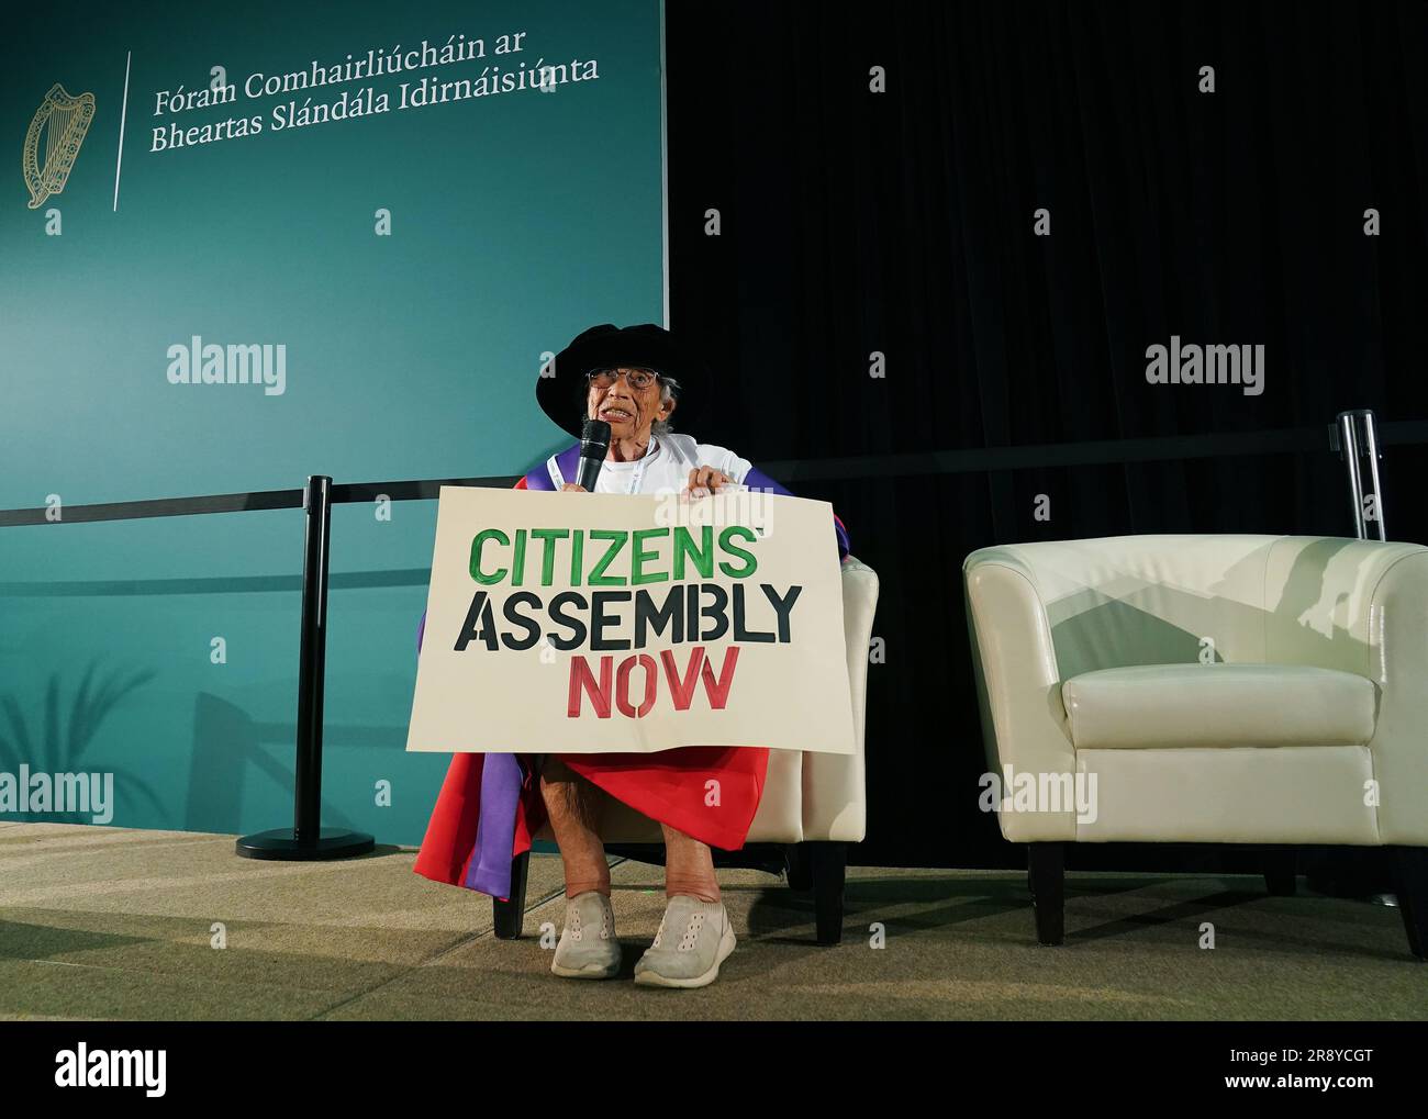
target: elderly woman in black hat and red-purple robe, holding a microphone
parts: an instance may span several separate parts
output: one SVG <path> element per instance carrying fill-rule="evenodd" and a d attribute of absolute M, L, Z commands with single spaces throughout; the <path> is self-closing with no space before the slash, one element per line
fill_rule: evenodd
<path fill-rule="evenodd" d="M 670 417 L 697 374 L 661 327 L 593 327 L 555 357 L 554 373 L 536 383 L 537 400 L 551 420 L 577 437 L 587 418 L 610 424 L 610 450 L 595 492 L 687 491 L 700 498 L 730 484 L 788 492 L 733 451 L 674 434 Z M 516 488 L 583 492 L 573 481 L 578 455 L 577 442 L 536 467 Z M 847 534 L 841 521 L 834 522 L 838 552 L 845 557 Z M 417 642 L 420 648 L 420 635 Z M 734 951 L 710 848 L 744 845 L 767 766 L 768 751 L 757 746 L 684 746 L 653 755 L 456 754 L 414 869 L 506 898 L 513 856 L 531 846 L 548 818 L 567 899 L 551 971 L 573 979 L 611 978 L 620 971 L 620 943 L 598 821 L 600 799 L 613 796 L 657 821 L 665 844 L 667 906 L 654 943 L 635 965 L 635 982 L 704 986 Z M 711 779 L 720 782 L 718 811 L 705 805 Z"/>

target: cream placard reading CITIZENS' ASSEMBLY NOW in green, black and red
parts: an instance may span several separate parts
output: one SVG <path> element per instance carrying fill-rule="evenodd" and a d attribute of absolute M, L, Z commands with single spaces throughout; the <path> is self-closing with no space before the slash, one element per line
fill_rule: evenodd
<path fill-rule="evenodd" d="M 853 754 L 827 501 L 443 485 L 408 751 Z"/>

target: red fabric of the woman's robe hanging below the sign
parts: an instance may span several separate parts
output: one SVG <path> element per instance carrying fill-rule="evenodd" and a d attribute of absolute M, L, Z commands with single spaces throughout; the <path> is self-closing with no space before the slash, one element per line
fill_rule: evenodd
<path fill-rule="evenodd" d="M 526 488 L 526 478 L 516 484 Z M 466 885 L 481 814 L 483 754 L 453 754 L 411 868 L 453 886 Z M 660 754 L 560 754 L 574 772 L 650 819 L 710 846 L 738 851 L 758 811 L 768 772 L 763 746 L 683 746 Z M 540 776 L 527 769 L 516 812 L 511 858 L 528 851 L 545 822 Z M 718 781 L 720 805 L 707 806 L 705 782 Z"/>

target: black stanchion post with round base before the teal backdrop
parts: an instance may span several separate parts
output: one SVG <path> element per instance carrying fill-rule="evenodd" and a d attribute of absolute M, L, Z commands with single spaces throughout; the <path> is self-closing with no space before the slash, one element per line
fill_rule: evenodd
<path fill-rule="evenodd" d="M 363 832 L 323 828 L 323 685 L 327 665 L 327 555 L 333 531 L 333 480 L 313 474 L 303 494 L 303 635 L 297 667 L 297 766 L 293 829 L 244 835 L 237 852 L 250 859 L 341 859 L 374 841 Z"/>

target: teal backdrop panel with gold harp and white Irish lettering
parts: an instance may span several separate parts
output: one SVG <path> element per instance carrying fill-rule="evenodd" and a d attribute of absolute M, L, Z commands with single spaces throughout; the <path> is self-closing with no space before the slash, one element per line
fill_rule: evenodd
<path fill-rule="evenodd" d="M 0 796 L 26 766 L 113 801 L 0 819 L 290 825 L 303 512 L 63 508 L 563 445 L 543 363 L 667 321 L 661 4 L 56 3 L 7 30 L 0 508 L 60 520 L 0 527 Z M 446 772 L 404 752 L 434 530 L 431 501 L 333 518 L 323 824 L 381 842 L 420 842 Z"/>

